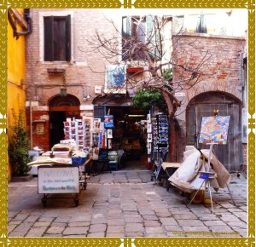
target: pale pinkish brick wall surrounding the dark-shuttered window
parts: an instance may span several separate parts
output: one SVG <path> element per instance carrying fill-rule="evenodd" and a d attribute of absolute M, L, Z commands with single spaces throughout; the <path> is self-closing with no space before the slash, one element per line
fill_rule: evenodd
<path fill-rule="evenodd" d="M 98 13 L 97 13 L 98 12 Z M 72 19 L 72 61 L 44 62 L 44 15 L 71 14 Z M 32 9 L 32 34 L 26 43 L 26 85 L 27 100 L 47 105 L 49 99 L 60 93 L 61 76 L 51 76 L 48 68 L 66 70 L 67 93 L 76 95 L 81 104 L 83 96 L 94 94 L 95 85 L 104 85 L 106 60 L 95 52 L 89 41 L 96 36 L 96 28 L 110 35 L 112 24 L 97 9 Z M 53 86 L 50 85 L 60 86 Z M 72 84 L 76 84 L 72 86 Z"/>

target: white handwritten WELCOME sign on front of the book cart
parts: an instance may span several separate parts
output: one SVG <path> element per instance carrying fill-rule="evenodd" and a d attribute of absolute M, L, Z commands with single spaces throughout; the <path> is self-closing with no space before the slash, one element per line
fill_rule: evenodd
<path fill-rule="evenodd" d="M 39 166 L 38 193 L 79 193 L 79 167 Z"/>

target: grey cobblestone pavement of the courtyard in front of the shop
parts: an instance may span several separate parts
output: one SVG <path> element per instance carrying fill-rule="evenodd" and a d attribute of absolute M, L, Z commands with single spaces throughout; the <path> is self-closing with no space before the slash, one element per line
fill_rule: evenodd
<path fill-rule="evenodd" d="M 38 178 L 9 183 L 9 237 L 246 237 L 247 179 L 235 175 L 213 192 L 211 204 L 190 204 L 145 171 L 91 176 L 75 207 L 73 199 L 49 199 L 44 208 Z M 206 198 L 209 195 L 206 195 Z"/>

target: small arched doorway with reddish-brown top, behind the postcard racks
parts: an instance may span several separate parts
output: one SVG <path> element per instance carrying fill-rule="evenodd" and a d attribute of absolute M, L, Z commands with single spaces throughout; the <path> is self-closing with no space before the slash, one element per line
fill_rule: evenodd
<path fill-rule="evenodd" d="M 74 95 L 55 95 L 49 100 L 49 147 L 64 139 L 67 118 L 80 118 L 80 101 Z"/>

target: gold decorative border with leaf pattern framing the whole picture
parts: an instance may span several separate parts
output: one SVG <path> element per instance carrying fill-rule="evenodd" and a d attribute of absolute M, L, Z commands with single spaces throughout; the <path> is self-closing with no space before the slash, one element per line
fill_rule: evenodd
<path fill-rule="evenodd" d="M 255 0 L 0 0 L 0 245 L 2 246 L 254 246 L 255 245 Z M 248 237 L 247 238 L 8 238 L 7 237 L 7 9 L 206 8 L 248 11 Z"/>

